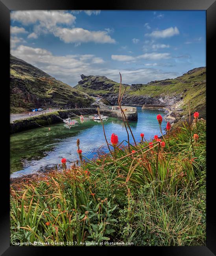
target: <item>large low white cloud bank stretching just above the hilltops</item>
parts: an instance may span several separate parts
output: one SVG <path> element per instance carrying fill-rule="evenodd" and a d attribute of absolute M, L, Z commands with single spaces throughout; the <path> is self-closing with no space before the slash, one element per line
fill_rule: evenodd
<path fill-rule="evenodd" d="M 20 45 L 11 54 L 35 65 L 51 76 L 68 83 L 76 85 L 81 80 L 80 75 L 107 76 L 119 82 L 119 71 L 122 74 L 123 83 L 148 83 L 151 80 L 175 78 L 180 75 L 176 72 L 162 72 L 159 69 L 107 69 L 100 62 L 102 58 L 93 54 L 54 56 L 50 51 L 41 48 L 31 48 Z"/>

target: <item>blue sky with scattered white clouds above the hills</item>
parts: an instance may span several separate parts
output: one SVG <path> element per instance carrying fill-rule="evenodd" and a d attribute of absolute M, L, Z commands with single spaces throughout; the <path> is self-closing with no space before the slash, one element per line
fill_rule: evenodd
<path fill-rule="evenodd" d="M 206 65 L 205 11 L 12 11 L 11 54 L 71 86 L 148 83 Z"/>

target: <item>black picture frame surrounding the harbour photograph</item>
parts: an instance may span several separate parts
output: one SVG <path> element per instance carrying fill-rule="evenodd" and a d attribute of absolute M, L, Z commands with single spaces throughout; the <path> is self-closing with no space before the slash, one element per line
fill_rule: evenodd
<path fill-rule="evenodd" d="M 10 52 L 10 11 L 11 10 L 34 10 L 34 9 L 52 9 L 52 10 L 70 10 L 70 9 L 102 9 L 102 10 L 206 10 L 207 16 L 207 37 L 206 37 L 206 53 L 207 53 L 207 102 L 213 102 L 207 104 L 207 119 L 214 121 L 214 115 L 210 114 L 211 106 L 214 106 L 214 94 L 211 92 L 212 87 L 215 86 L 215 35 L 216 35 L 216 1 L 215 0 L 109 0 L 107 2 L 100 2 L 94 5 L 92 2 L 87 2 L 83 5 L 78 1 L 68 0 L 1 0 L 0 1 L 0 38 L 2 45 L 1 63 L 3 63 L 2 78 L 4 78 L 4 84 L 2 84 L 2 97 L 6 98 L 9 93 L 9 52 Z M 7 87 L 8 86 L 8 87 Z M 9 95 L 8 95 L 9 103 Z M 212 104 L 212 105 L 211 105 Z M 9 105 L 9 104 L 8 104 Z M 9 119 L 9 106 L 4 104 L 4 123 Z M 7 112 L 8 111 L 8 112 Z M 9 123 L 9 122 L 8 122 Z M 5 132 L 7 134 L 7 125 L 5 125 Z M 142 254 L 159 253 L 160 255 L 205 255 L 211 256 L 216 254 L 216 217 L 214 211 L 214 180 L 215 180 L 215 168 L 214 165 L 210 165 L 210 162 L 214 163 L 214 148 L 210 150 L 209 146 L 215 145 L 215 140 L 212 141 L 214 136 L 214 125 L 207 125 L 207 138 L 210 137 L 210 142 L 207 139 L 207 245 L 203 247 L 12 247 L 10 246 L 10 232 L 9 232 L 9 174 L 7 174 L 7 163 L 3 160 L 2 163 L 2 193 L 1 197 L 6 198 L 5 204 L 2 204 L 1 212 L 2 217 L 0 219 L 0 254 L 1 255 L 44 255 L 49 254 L 51 251 L 58 253 L 65 253 L 65 250 L 77 254 L 90 253 L 93 254 L 93 250 L 108 255 L 113 252 L 120 253 L 122 250 L 127 250 L 131 253 L 134 250 L 139 249 Z M 8 145 L 7 137 L 6 144 Z M 6 144 L 3 144 L 4 147 Z M 215 147 L 215 146 L 214 146 Z M 4 168 L 3 168 L 4 167 Z M 8 172 L 9 173 L 9 172 Z"/>

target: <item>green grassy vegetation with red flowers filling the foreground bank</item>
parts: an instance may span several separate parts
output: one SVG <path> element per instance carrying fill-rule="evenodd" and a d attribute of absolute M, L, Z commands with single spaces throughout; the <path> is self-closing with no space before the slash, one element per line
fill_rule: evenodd
<path fill-rule="evenodd" d="M 11 245 L 205 245 L 206 122 L 164 139 L 111 141 L 88 161 L 78 141 L 76 163 L 11 183 Z"/>

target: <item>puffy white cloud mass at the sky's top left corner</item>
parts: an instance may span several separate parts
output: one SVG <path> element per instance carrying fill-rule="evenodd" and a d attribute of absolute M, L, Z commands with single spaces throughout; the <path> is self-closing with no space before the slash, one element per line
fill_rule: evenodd
<path fill-rule="evenodd" d="M 98 14 L 99 11 L 85 11 Z M 76 17 L 66 11 L 13 11 L 11 19 L 21 22 L 22 24 L 35 24 L 34 31 L 28 38 L 37 38 L 41 33 L 52 33 L 59 37 L 65 43 L 95 42 L 95 43 L 115 43 L 108 33 L 110 31 L 89 31 L 83 28 L 62 28 L 57 24 L 74 24 Z"/>

